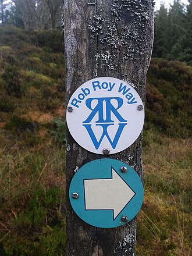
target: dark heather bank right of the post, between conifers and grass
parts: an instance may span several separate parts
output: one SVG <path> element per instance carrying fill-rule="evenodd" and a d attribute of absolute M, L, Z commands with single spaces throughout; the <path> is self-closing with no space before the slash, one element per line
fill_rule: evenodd
<path fill-rule="evenodd" d="M 152 59 L 148 70 L 145 129 L 189 138 L 192 120 L 192 68 L 184 63 Z"/>

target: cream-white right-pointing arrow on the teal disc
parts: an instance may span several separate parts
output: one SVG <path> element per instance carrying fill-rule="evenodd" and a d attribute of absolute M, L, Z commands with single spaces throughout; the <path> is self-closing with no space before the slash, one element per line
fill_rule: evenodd
<path fill-rule="evenodd" d="M 113 219 L 136 193 L 111 168 L 111 179 L 84 180 L 86 210 L 113 210 Z"/>

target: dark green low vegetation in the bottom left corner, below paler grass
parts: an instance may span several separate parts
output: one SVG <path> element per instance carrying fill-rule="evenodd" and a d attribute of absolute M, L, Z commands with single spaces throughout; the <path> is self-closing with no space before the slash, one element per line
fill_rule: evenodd
<path fill-rule="evenodd" d="M 62 255 L 65 248 L 65 219 L 59 209 L 59 187 L 33 191 L 26 209 L 13 219 L 14 232 L 4 240 L 5 255 Z"/>

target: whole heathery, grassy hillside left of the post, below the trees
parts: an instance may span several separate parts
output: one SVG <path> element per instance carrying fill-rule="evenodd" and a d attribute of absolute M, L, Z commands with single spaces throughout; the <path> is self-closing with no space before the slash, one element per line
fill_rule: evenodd
<path fill-rule="evenodd" d="M 0 26 L 0 36 L 0 255 L 61 256 L 65 131 L 51 122 L 65 98 L 62 35 Z"/>

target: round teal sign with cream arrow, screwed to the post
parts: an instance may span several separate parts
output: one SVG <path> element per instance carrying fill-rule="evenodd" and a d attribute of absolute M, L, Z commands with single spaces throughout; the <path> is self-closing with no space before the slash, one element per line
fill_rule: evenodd
<path fill-rule="evenodd" d="M 74 212 L 84 222 L 103 228 L 131 221 L 140 210 L 143 197 L 143 184 L 134 169 L 110 158 L 83 165 L 69 188 Z"/>

